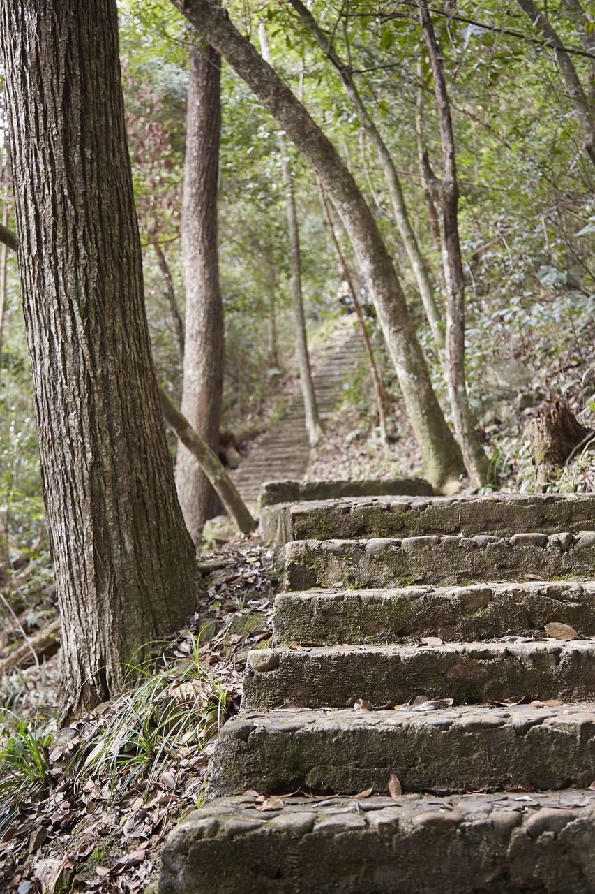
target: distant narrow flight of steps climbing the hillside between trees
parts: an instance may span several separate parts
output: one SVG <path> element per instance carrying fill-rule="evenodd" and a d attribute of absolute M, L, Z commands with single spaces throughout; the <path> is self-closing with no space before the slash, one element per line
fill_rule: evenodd
<path fill-rule="evenodd" d="M 314 392 L 321 421 L 332 416 L 340 398 L 340 388 L 353 375 L 364 355 L 362 337 L 349 326 L 345 342 L 313 374 Z M 264 435 L 253 451 L 233 473 L 233 481 L 242 500 L 255 504 L 261 485 L 273 479 L 304 477 L 310 462 L 310 444 L 306 432 L 304 400 L 301 392 L 289 401 L 283 416 Z"/>

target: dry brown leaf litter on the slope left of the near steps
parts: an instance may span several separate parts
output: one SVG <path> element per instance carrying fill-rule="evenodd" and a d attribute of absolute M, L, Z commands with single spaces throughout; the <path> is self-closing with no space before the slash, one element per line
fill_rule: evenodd
<path fill-rule="evenodd" d="M 40 788 L 34 797 L 14 798 L 12 816 L 0 828 L 0 890 L 156 890 L 163 840 L 196 806 L 216 730 L 239 710 L 247 652 L 272 633 L 272 554 L 256 536 L 198 563 L 203 586 L 197 612 L 154 665 L 141 669 L 141 688 L 149 687 L 145 716 L 138 689 L 131 689 L 40 746 Z M 25 677 L 20 720 L 40 735 L 41 718 L 54 713 L 58 701 L 57 656 L 22 675 L 28 672 L 33 683 L 29 687 Z M 40 674 L 43 701 L 32 697 Z M 159 674 L 161 684 L 151 688 L 147 680 Z M 0 713 L 0 749 L 14 735 L 10 721 Z M 46 721 L 47 729 L 55 726 Z M 3 797 L 0 789 L 4 808 Z M 271 806 L 262 809 L 279 809 L 272 807 L 279 799 L 266 800 Z"/>

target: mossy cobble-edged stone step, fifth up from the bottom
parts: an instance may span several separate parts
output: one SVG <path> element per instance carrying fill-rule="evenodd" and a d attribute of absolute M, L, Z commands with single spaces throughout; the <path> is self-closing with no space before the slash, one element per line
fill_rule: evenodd
<path fill-rule="evenodd" d="M 592 578 L 595 531 L 574 536 L 420 536 L 394 540 L 298 540 L 285 546 L 285 587 L 455 585 Z"/>

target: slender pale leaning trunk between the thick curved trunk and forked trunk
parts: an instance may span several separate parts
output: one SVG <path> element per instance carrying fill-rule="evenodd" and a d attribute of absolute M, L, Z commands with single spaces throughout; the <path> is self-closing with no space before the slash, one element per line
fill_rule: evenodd
<path fill-rule="evenodd" d="M 342 60 L 339 58 L 338 53 L 332 46 L 331 38 L 329 38 L 320 28 L 318 22 L 315 21 L 313 14 L 306 9 L 306 6 L 301 2 L 301 0 L 289 0 L 289 2 L 298 13 L 302 24 L 306 26 L 306 29 L 309 31 L 310 35 L 314 38 L 318 46 L 322 48 L 323 53 L 335 66 L 337 72 L 339 73 L 341 83 L 343 84 L 345 92 L 348 96 L 348 100 L 356 110 L 357 120 L 364 128 L 373 144 L 373 147 L 376 149 L 378 161 L 381 164 L 381 168 L 384 172 L 384 176 L 389 187 L 390 200 L 392 203 L 393 214 L 395 215 L 395 221 L 397 222 L 398 232 L 400 233 L 401 239 L 403 240 L 407 257 L 409 258 L 409 263 L 411 264 L 413 272 L 415 274 L 417 288 L 419 289 L 419 293 L 422 298 L 423 309 L 425 310 L 425 315 L 428 318 L 428 323 L 430 324 L 430 328 L 432 330 L 434 342 L 436 342 L 436 344 L 440 348 L 442 348 L 444 347 L 442 317 L 438 308 L 438 304 L 436 303 L 436 297 L 432 289 L 432 283 L 430 282 L 430 276 L 428 274 L 428 268 L 425 258 L 423 257 L 422 250 L 420 249 L 417 239 L 415 238 L 415 232 L 409 220 L 405 198 L 403 196 L 403 190 L 401 188 L 401 182 L 398 179 L 397 169 L 395 167 L 395 163 L 392 160 L 392 156 L 390 155 L 390 150 L 382 139 L 381 132 L 378 130 L 375 123 L 373 122 L 371 115 L 365 108 L 364 101 L 359 95 L 349 66 L 343 63 Z"/>

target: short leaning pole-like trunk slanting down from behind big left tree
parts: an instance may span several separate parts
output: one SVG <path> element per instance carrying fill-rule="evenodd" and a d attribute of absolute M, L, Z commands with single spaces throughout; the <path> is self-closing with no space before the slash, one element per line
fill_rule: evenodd
<path fill-rule="evenodd" d="M 221 498 L 221 502 L 230 516 L 239 527 L 243 534 L 249 534 L 256 527 L 256 521 L 250 515 L 246 508 L 246 504 L 240 497 L 236 486 L 225 471 L 222 461 L 219 459 L 214 450 L 205 442 L 203 438 L 189 424 L 186 417 L 182 416 L 179 409 L 176 409 L 172 401 L 170 401 L 163 388 L 159 389 L 159 400 L 161 401 L 161 409 L 163 418 L 180 439 L 180 443 L 189 451 L 195 464 L 199 464 L 205 476 L 208 478 L 214 490 Z"/>

